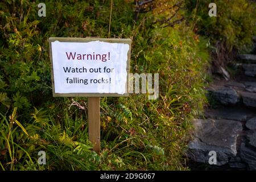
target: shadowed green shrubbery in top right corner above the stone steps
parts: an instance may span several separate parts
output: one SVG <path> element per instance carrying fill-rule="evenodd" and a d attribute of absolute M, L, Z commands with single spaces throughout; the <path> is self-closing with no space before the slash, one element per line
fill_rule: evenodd
<path fill-rule="evenodd" d="M 218 64 L 232 60 L 237 51 L 249 50 L 256 34 L 254 2 L 247 0 L 218 0 L 217 17 L 208 16 L 210 0 L 186 1 L 187 15 L 193 19 L 197 34 L 208 38 L 208 47 Z"/>

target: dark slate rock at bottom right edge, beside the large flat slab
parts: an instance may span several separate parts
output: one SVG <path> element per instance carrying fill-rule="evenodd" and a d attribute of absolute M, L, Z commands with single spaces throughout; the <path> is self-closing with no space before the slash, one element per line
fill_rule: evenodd
<path fill-rule="evenodd" d="M 256 150 L 241 144 L 240 156 L 243 162 L 247 163 L 251 170 L 256 170 Z"/>

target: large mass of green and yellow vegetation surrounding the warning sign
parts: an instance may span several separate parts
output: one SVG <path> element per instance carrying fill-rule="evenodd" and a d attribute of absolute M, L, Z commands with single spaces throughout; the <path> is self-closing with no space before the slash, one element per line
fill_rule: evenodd
<path fill-rule="evenodd" d="M 53 98 L 48 38 L 108 38 L 111 1 L 0 2 L 0 169 L 181 170 L 191 119 L 203 111 L 207 40 L 179 1 L 113 1 L 110 38 L 131 38 L 131 73 L 159 73 L 159 98 L 101 98 L 101 154 L 86 98 Z M 149 11 L 150 10 L 150 11 Z M 152 11 L 151 11 L 152 10 Z M 10 115 L 10 117 L 9 117 Z M 47 165 L 38 152 L 46 151 Z"/>

